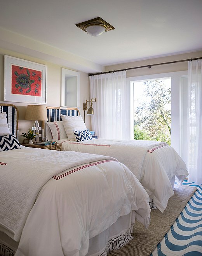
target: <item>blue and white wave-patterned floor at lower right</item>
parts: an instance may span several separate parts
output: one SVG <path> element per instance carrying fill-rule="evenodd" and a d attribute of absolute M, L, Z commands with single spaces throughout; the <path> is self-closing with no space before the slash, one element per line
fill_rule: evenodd
<path fill-rule="evenodd" d="M 202 256 L 202 185 L 183 185 L 197 190 L 150 256 Z"/>

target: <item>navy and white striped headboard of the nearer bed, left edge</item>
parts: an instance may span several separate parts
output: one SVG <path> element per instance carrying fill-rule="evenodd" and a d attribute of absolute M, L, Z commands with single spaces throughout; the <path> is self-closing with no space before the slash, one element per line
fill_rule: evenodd
<path fill-rule="evenodd" d="M 18 139 L 18 109 L 12 104 L 0 103 L 0 113 L 6 112 L 10 133 Z"/>

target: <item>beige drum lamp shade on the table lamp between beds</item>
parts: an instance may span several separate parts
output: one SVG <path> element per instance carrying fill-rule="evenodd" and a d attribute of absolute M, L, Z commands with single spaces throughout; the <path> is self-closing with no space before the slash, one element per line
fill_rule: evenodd
<path fill-rule="evenodd" d="M 28 105 L 25 120 L 47 121 L 47 111 L 45 105 Z"/>

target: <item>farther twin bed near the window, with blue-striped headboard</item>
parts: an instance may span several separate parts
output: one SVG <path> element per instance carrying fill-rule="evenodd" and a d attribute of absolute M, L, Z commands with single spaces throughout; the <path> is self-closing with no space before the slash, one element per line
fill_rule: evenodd
<path fill-rule="evenodd" d="M 65 116 L 68 116 L 68 119 L 62 122 L 62 118 Z M 46 135 L 49 140 L 54 139 L 61 143 L 62 150 L 108 155 L 117 158 L 141 182 L 150 196 L 151 207 L 153 208 L 155 205 L 161 212 L 165 210 L 168 199 L 174 194 L 175 178 L 181 185 L 188 176 L 185 162 L 165 142 L 110 139 L 76 142 L 73 139 L 71 127 L 73 130 L 86 129 L 82 120 L 72 121 L 79 117 L 78 109 L 47 107 L 47 117 Z M 70 123 L 67 126 L 69 119 L 73 124 Z"/>

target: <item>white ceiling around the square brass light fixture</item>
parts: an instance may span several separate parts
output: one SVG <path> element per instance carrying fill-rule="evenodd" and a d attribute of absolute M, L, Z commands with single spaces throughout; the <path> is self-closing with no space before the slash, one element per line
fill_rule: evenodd
<path fill-rule="evenodd" d="M 92 37 L 75 26 L 98 16 L 115 29 Z M 0 0 L 0 47 L 87 73 L 194 52 L 202 50 L 202 0 Z"/>

